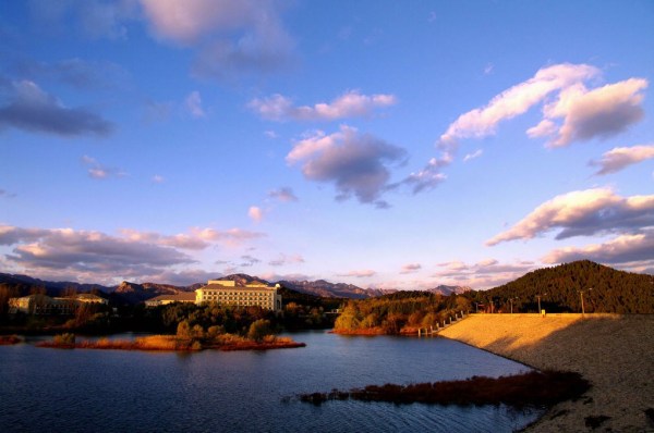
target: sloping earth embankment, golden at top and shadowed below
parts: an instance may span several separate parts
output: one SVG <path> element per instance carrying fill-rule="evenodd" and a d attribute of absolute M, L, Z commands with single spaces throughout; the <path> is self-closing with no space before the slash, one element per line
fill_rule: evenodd
<path fill-rule="evenodd" d="M 439 335 L 591 382 L 529 432 L 654 432 L 654 316 L 471 314 Z"/>

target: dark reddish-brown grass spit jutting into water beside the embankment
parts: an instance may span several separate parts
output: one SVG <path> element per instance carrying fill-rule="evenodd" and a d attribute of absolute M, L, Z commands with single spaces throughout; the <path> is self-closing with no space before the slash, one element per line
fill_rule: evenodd
<path fill-rule="evenodd" d="M 531 371 L 523 374 L 486 378 L 472 376 L 463 381 L 417 383 L 410 385 L 368 385 L 350 391 L 301 394 L 304 403 L 322 405 L 329 400 L 385 401 L 393 404 L 423 403 L 432 405 L 499 405 L 516 408 L 553 406 L 580 397 L 590 388 L 581 374 L 561 371 Z"/>

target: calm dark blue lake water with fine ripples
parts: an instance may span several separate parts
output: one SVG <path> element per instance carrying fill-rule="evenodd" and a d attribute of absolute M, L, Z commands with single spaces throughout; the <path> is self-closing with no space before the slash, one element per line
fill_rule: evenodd
<path fill-rule="evenodd" d="M 284 398 L 528 370 L 437 337 L 292 336 L 307 347 L 174 354 L 0 346 L 0 431 L 510 432 L 541 413 Z"/>

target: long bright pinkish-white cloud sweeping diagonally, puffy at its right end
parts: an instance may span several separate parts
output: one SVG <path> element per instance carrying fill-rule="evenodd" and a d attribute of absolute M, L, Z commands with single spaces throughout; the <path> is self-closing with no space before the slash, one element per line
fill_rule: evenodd
<path fill-rule="evenodd" d="M 501 122 L 537 104 L 543 107 L 543 119 L 526 135 L 547 137 L 549 147 L 607 138 L 642 119 L 646 79 L 629 78 L 589 90 L 584 83 L 598 77 L 601 71 L 588 64 L 561 63 L 538 70 L 533 77 L 504 90 L 486 106 L 461 114 L 437 140 L 441 156 L 412 173 L 404 183 L 413 186 L 414 194 L 436 187 L 445 180 L 441 171 L 452 163 L 462 139 L 495 135 Z"/>

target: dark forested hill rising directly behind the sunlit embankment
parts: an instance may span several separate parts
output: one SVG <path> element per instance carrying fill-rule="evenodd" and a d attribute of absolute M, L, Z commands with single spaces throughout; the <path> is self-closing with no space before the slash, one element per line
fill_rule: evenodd
<path fill-rule="evenodd" d="M 617 271 L 582 260 L 530 272 L 489 290 L 470 292 L 474 309 L 486 312 L 654 313 L 654 276 Z"/>

